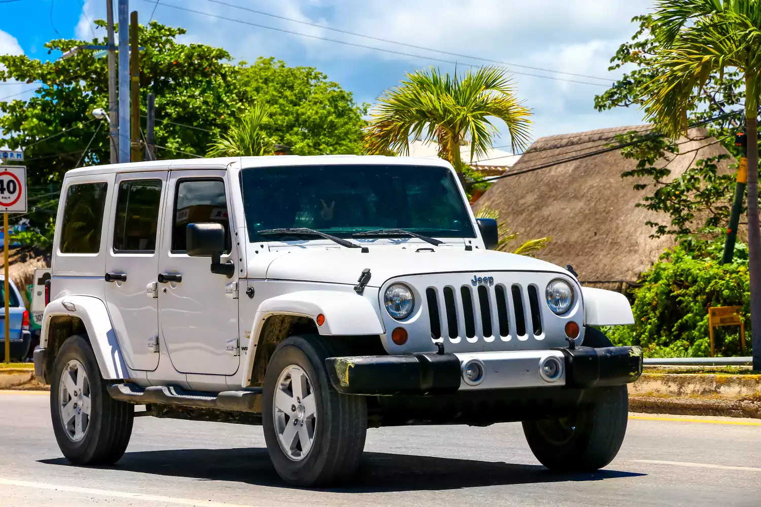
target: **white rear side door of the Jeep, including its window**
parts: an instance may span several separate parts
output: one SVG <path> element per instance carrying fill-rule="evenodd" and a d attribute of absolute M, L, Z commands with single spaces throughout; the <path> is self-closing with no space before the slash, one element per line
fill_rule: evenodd
<path fill-rule="evenodd" d="M 146 286 L 158 274 L 157 240 L 167 171 L 119 174 L 106 255 L 106 303 L 127 366 L 158 366 L 158 299 Z"/>

